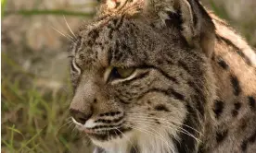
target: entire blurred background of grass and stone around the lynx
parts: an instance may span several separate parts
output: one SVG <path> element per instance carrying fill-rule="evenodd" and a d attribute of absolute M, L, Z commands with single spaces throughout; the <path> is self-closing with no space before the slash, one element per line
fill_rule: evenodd
<path fill-rule="evenodd" d="M 256 47 L 255 0 L 202 0 Z M 91 152 L 70 122 L 65 35 L 90 20 L 96 0 L 2 0 L 2 152 Z"/>

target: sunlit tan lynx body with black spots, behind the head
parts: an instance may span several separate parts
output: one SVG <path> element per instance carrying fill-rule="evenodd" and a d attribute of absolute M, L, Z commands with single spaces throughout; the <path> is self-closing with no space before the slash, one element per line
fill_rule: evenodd
<path fill-rule="evenodd" d="M 212 142 L 210 146 L 214 148 L 213 152 L 231 150 L 230 152 L 252 153 L 256 149 L 255 141 L 249 143 L 248 139 L 256 133 L 256 114 L 255 103 L 251 106 L 249 97 L 254 97 L 255 100 L 256 96 L 256 55 L 234 29 L 219 18 L 213 15 L 211 17 L 217 37 L 211 65 L 217 79 L 217 97 L 218 100 L 224 101 L 224 108 L 219 119 L 211 123 L 214 129 L 209 133 L 209 137 L 216 133 L 224 134 L 225 131 L 227 134 L 221 144 Z M 220 65 L 220 61 L 226 64 L 226 68 Z M 237 95 L 234 93 L 230 76 L 237 77 L 240 88 Z M 236 105 L 240 105 L 237 106 L 237 111 Z"/>

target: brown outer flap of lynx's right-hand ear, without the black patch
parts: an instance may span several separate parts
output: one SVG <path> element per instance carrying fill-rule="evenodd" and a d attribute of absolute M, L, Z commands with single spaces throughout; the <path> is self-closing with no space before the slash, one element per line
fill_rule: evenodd
<path fill-rule="evenodd" d="M 179 0 L 183 17 L 183 34 L 191 45 L 198 45 L 208 57 L 214 52 L 215 26 L 198 0 Z"/>

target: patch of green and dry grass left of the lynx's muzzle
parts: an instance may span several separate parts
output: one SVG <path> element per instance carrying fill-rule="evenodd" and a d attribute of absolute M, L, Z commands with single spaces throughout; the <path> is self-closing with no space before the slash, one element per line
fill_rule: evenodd
<path fill-rule="evenodd" d="M 70 89 L 57 91 L 33 87 L 28 75 L 2 53 L 2 151 L 73 152 L 82 135 L 69 120 Z M 70 125 L 70 128 L 69 128 Z"/>

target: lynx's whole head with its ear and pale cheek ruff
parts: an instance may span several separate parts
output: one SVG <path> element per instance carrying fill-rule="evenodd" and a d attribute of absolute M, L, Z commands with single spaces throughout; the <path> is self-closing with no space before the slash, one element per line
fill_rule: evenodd
<path fill-rule="evenodd" d="M 103 2 L 71 45 L 73 122 L 96 152 L 196 151 L 213 40 L 196 0 Z"/>

